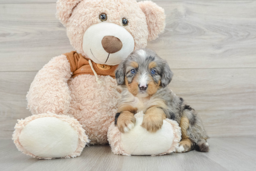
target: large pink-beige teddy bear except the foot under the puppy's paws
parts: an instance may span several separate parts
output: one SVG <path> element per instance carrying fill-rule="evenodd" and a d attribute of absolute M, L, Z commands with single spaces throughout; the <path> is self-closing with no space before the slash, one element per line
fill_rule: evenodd
<path fill-rule="evenodd" d="M 13 133 L 18 150 L 41 159 L 77 157 L 87 144 L 108 143 L 121 98 L 114 71 L 165 28 L 164 9 L 152 1 L 56 4 L 75 51 L 53 57 L 38 71 L 26 96 L 32 115 L 18 120 Z"/>

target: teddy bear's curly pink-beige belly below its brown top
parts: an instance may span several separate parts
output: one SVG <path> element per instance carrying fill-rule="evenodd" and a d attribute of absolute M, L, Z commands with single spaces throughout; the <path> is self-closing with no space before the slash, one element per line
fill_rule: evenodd
<path fill-rule="evenodd" d="M 106 144 L 107 129 L 117 111 L 121 98 L 120 87 L 110 76 L 99 76 L 102 84 L 97 84 L 95 76 L 81 75 L 68 82 L 71 91 L 69 114 L 81 122 L 91 144 Z M 86 82 L 86 84 L 85 84 Z"/>

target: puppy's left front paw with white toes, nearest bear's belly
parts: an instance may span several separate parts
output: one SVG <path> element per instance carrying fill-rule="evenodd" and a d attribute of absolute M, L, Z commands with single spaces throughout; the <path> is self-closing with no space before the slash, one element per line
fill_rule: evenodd
<path fill-rule="evenodd" d="M 123 111 L 117 119 L 117 127 L 121 133 L 129 132 L 136 123 L 136 118 L 129 111 Z"/>

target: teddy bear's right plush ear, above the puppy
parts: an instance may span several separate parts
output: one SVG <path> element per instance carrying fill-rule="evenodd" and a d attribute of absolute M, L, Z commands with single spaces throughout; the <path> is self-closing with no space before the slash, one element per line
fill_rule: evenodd
<path fill-rule="evenodd" d="M 146 15 L 149 31 L 148 41 L 155 40 L 165 28 L 164 9 L 152 1 L 140 1 L 138 4 Z"/>

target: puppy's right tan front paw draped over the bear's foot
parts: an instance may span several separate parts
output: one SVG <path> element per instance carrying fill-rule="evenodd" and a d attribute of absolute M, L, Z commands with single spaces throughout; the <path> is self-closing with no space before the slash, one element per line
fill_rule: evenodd
<path fill-rule="evenodd" d="M 141 126 L 149 132 L 156 132 L 163 125 L 163 117 L 158 115 L 144 115 Z"/>

